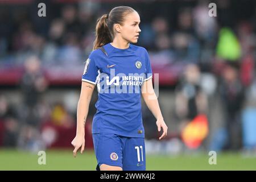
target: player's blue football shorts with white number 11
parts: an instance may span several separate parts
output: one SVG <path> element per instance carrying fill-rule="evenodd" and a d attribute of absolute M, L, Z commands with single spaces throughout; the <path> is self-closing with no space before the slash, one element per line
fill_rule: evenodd
<path fill-rule="evenodd" d="M 101 164 L 122 167 L 123 171 L 145 171 L 144 138 L 122 137 L 112 133 L 93 134 L 97 170 Z"/>

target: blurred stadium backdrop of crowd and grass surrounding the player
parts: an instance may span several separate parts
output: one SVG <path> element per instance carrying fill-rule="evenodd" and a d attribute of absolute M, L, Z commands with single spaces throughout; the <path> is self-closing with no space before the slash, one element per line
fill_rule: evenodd
<path fill-rule="evenodd" d="M 46 17 L 38 16 L 40 2 Z M 211 2 L 216 17 L 208 14 Z M 86 151 L 72 156 L 81 75 L 97 18 L 121 5 L 141 16 L 138 46 L 147 48 L 159 74 L 159 104 L 169 129 L 159 142 L 155 119 L 143 104 L 147 169 L 255 170 L 252 0 L 1 0 L 0 169 L 95 169 L 90 130 L 97 90 L 85 127 Z M 46 165 L 38 164 L 42 150 Z M 209 151 L 216 151 L 216 165 L 209 164 Z"/>

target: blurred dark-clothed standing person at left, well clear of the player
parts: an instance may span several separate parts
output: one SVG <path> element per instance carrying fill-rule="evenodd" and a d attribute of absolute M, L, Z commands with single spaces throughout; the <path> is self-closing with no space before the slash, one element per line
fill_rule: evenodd
<path fill-rule="evenodd" d="M 40 60 L 36 56 L 29 57 L 24 64 L 25 73 L 20 81 L 24 98 L 23 123 L 20 131 L 19 146 L 36 151 L 42 147 L 40 143 L 40 94 L 47 88 L 46 78 L 40 67 Z"/>

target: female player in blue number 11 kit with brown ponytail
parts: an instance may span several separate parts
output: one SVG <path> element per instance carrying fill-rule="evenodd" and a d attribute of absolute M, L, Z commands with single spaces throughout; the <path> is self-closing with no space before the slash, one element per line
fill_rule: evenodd
<path fill-rule="evenodd" d="M 140 17 L 127 6 L 114 7 L 96 24 L 93 51 L 86 60 L 79 102 L 73 155 L 85 147 L 85 121 L 95 85 L 97 112 L 92 134 L 97 170 L 146 170 L 141 96 L 156 118 L 159 139 L 166 137 L 158 99 L 152 86 L 150 58 L 145 48 L 135 46 Z"/>

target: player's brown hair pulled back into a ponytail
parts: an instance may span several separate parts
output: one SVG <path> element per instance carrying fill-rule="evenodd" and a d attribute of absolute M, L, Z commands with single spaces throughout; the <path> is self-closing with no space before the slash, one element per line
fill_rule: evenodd
<path fill-rule="evenodd" d="M 96 23 L 96 39 L 93 43 L 93 50 L 113 41 L 115 23 L 123 24 L 125 16 L 135 10 L 129 6 L 114 7 L 109 14 L 104 14 Z"/>

